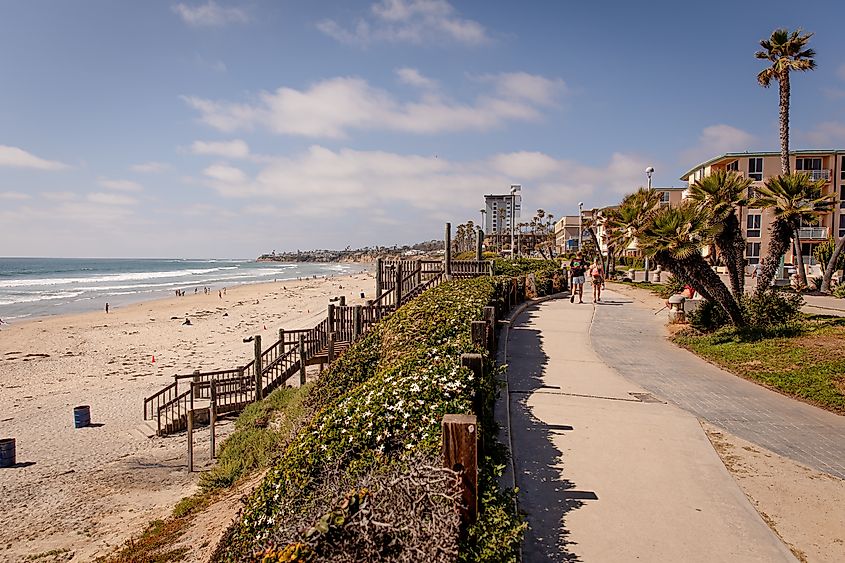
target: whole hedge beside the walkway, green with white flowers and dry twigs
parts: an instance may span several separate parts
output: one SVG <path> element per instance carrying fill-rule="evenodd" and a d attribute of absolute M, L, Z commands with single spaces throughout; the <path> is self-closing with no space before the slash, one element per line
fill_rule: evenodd
<path fill-rule="evenodd" d="M 497 392 L 489 348 L 473 342 L 484 308 L 554 290 L 554 263 L 526 277 L 452 281 L 384 319 L 323 373 L 313 413 L 217 546 L 213 561 L 516 561 L 524 524 L 497 477 Z M 517 281 L 519 280 L 519 281 Z M 478 377 L 461 355 L 480 353 Z M 462 526 L 457 474 L 443 469 L 441 420 L 479 416 L 478 517 Z"/>

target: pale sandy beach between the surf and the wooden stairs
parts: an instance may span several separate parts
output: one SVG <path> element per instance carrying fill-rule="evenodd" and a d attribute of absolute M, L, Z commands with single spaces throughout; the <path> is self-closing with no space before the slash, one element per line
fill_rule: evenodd
<path fill-rule="evenodd" d="M 199 474 L 187 473 L 184 435 L 148 436 L 144 397 L 177 373 L 243 365 L 253 354 L 243 338 L 310 328 L 330 297 L 354 304 L 373 290 L 359 273 L 0 327 L 0 437 L 17 440 L 18 463 L 0 469 L 0 561 L 52 550 L 39 560 L 89 561 L 167 516 Z M 90 405 L 91 427 L 74 429 L 77 405 Z M 195 440 L 206 463 L 207 433 Z"/>

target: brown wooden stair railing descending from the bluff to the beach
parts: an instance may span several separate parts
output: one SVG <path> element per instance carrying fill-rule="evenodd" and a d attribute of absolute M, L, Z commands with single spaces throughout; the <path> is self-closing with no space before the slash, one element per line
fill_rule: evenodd
<path fill-rule="evenodd" d="M 279 339 L 264 350 L 256 343 L 257 357 L 242 367 L 174 376 L 173 383 L 144 399 L 144 418 L 157 419 L 159 435 L 184 430 L 187 412 L 193 408 L 194 400 L 210 399 L 212 386 L 216 394 L 216 412 L 242 410 L 284 385 L 295 374 L 302 373 L 303 362 L 307 365 L 318 356 L 321 365 L 324 361 L 330 362 L 356 337 L 369 332 L 397 307 L 446 280 L 443 262 L 439 260 L 380 262 L 379 267 L 383 283 L 375 300 L 366 305 L 330 305 L 326 317 L 313 328 L 281 330 Z M 484 276 L 490 272 L 489 262 L 452 262 L 455 277 Z M 388 274 L 392 274 L 392 281 Z M 330 339 L 334 342 L 333 354 L 327 352 Z M 258 366 L 261 366 L 260 373 L 257 373 Z"/>

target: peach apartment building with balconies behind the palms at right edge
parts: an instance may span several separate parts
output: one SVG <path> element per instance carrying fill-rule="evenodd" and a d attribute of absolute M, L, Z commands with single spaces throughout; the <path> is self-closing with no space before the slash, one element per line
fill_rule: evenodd
<path fill-rule="evenodd" d="M 814 265 L 813 249 L 816 245 L 830 236 L 845 236 L 845 150 L 791 151 L 789 160 L 793 171 L 807 172 L 814 180 L 825 180 L 825 193 L 835 196 L 836 204 L 831 212 L 820 217 L 817 224 L 808 223 L 799 231 L 804 263 Z M 753 180 L 748 194 L 753 197 L 755 186 L 761 186 L 767 178 L 781 173 L 780 152 L 726 153 L 693 167 L 681 176 L 681 180 L 691 185 L 715 170 L 733 170 Z M 749 264 L 757 264 L 769 244 L 772 212 L 742 207 L 739 215 L 747 241 L 745 258 Z M 792 249 L 784 261 L 790 264 L 797 262 Z"/>

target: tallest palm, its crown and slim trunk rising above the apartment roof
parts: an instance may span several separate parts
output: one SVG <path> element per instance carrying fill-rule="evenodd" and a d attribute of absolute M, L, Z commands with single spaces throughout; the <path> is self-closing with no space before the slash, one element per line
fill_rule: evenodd
<path fill-rule="evenodd" d="M 772 80 L 777 80 L 780 93 L 780 167 L 781 173 L 789 174 L 789 73 L 793 70 L 807 71 L 816 68 L 813 57 L 816 52 L 807 49 L 807 42 L 812 33 L 801 35 L 801 30 L 789 32 L 776 29 L 769 39 L 760 41 L 762 51 L 755 57 L 766 59 L 772 65 L 757 75 L 757 82 L 768 88 Z"/>

